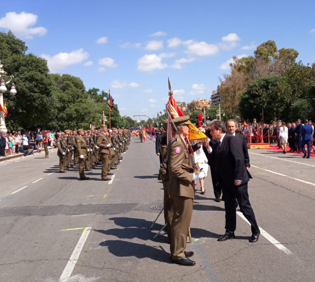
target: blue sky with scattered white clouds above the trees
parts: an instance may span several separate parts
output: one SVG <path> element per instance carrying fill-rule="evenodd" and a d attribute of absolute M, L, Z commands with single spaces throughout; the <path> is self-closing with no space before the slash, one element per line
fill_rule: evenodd
<path fill-rule="evenodd" d="M 48 60 L 51 72 L 80 77 L 86 89 L 111 89 L 121 115 L 210 99 L 233 55 L 272 39 L 315 61 L 314 1 L 12 1 L 0 30 Z"/>

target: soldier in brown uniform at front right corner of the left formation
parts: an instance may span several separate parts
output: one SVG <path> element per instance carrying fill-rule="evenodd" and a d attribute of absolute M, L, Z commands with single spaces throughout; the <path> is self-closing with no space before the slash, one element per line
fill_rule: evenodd
<path fill-rule="evenodd" d="M 110 181 L 111 179 L 107 177 L 107 169 L 109 165 L 109 147 L 111 146 L 111 143 L 108 140 L 108 137 L 106 136 L 107 132 L 107 125 L 102 124 L 101 125 L 102 132 L 97 138 L 97 147 L 100 148 L 100 157 L 102 160 L 102 174 L 101 179 L 102 181 Z"/>

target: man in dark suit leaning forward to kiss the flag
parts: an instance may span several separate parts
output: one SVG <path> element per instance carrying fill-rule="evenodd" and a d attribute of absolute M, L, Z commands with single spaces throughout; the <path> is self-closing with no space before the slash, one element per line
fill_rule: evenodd
<path fill-rule="evenodd" d="M 211 156 L 215 162 L 215 171 L 219 174 L 226 211 L 226 232 L 218 241 L 235 238 L 236 209 L 234 204 L 236 198 L 241 212 L 251 224 L 252 236 L 249 242 L 257 242 L 260 231 L 249 203 L 247 183 L 251 176 L 246 169 L 243 147 L 237 138 L 226 134 L 226 127 L 222 121 L 211 124 L 211 135 L 213 139 L 218 140 Z M 204 142 L 203 146 L 210 149 L 208 142 Z"/>

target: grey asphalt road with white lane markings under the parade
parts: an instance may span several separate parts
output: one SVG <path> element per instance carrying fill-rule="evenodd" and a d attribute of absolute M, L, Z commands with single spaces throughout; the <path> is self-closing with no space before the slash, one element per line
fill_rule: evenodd
<path fill-rule="evenodd" d="M 251 150 L 249 197 L 261 227 L 237 217 L 224 233 L 224 202 L 210 176 L 199 184 L 191 222 L 194 267 L 172 264 L 161 215 L 159 159 L 151 141 L 132 139 L 113 181 L 100 167 L 79 181 L 77 167 L 58 173 L 55 150 L 0 162 L 0 281 L 314 281 L 315 158 Z M 21 189 L 23 188 L 23 189 Z"/>

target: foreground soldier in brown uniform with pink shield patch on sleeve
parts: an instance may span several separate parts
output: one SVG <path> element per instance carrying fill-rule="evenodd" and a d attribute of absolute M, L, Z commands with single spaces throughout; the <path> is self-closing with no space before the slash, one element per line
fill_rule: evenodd
<path fill-rule="evenodd" d="M 170 252 L 172 261 L 184 266 L 196 264 L 189 259 L 194 253 L 186 252 L 185 249 L 187 232 L 192 218 L 192 199 L 195 197 L 193 181 L 203 178 L 203 175 L 194 173 L 192 161 L 182 142 L 189 134 L 188 120 L 189 116 L 173 119 L 179 135 L 175 134 L 167 145 L 167 168 L 169 170 L 167 189 L 173 199 L 174 210 Z"/>

